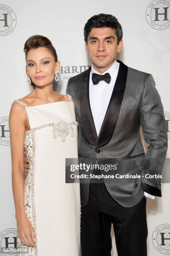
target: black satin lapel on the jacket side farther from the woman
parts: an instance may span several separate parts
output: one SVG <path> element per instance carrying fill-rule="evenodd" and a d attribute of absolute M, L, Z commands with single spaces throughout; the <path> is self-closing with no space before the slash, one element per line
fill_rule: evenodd
<path fill-rule="evenodd" d="M 115 86 L 113 88 L 112 96 L 107 108 L 105 118 L 100 129 L 100 133 L 97 140 L 96 148 L 104 146 L 112 138 L 113 131 L 117 122 L 118 115 L 120 113 L 120 107 L 122 98 L 125 92 L 125 85 L 128 73 L 128 67 L 121 61 Z"/>

